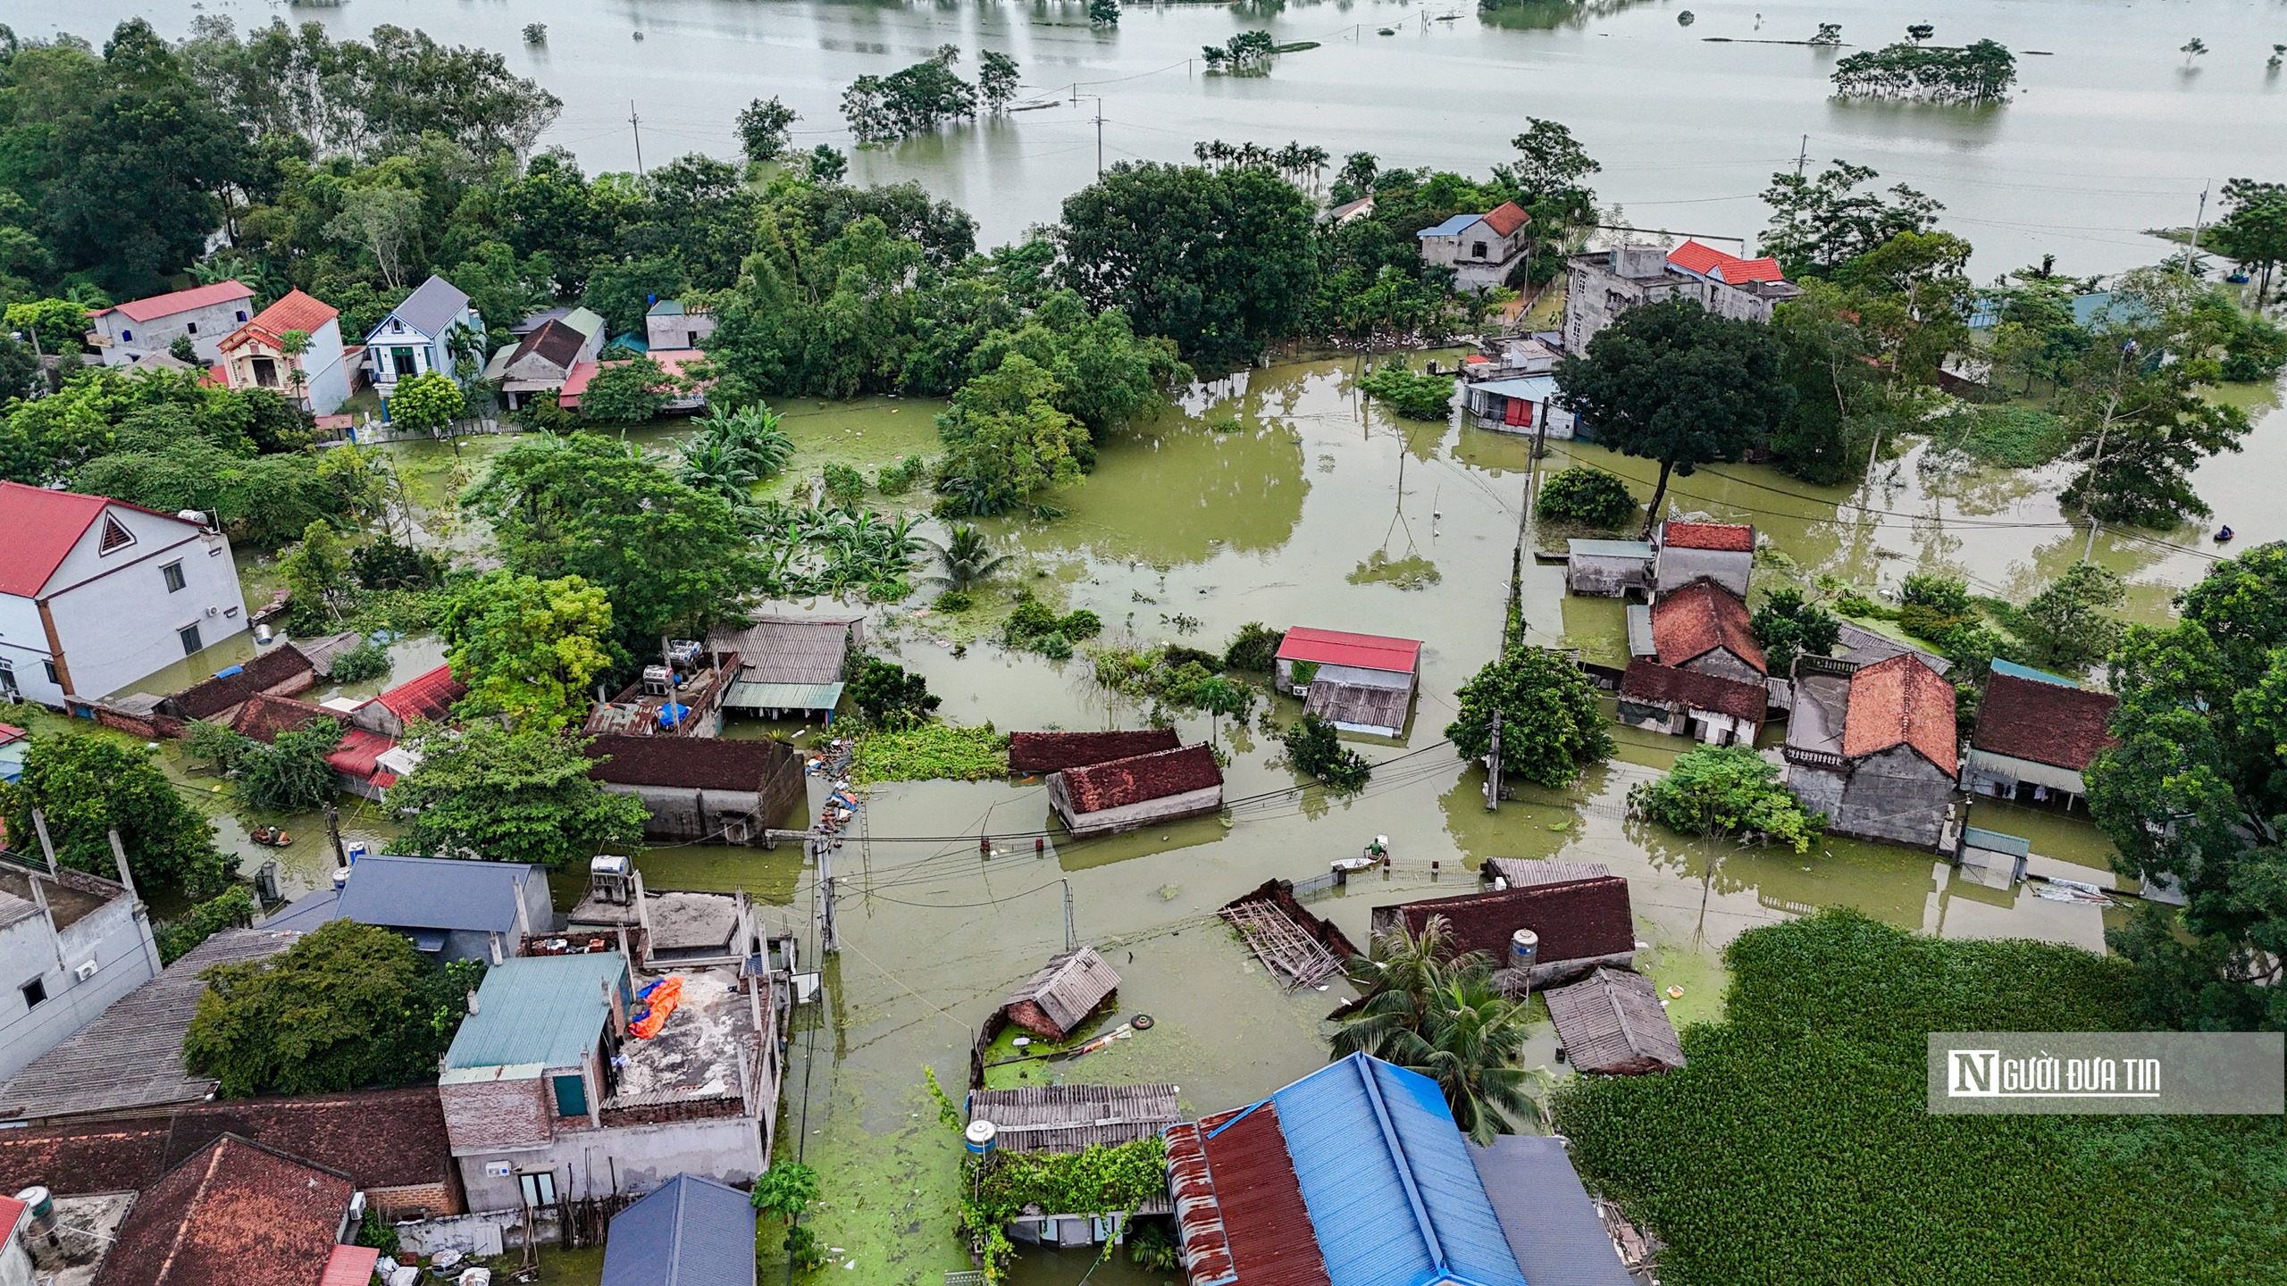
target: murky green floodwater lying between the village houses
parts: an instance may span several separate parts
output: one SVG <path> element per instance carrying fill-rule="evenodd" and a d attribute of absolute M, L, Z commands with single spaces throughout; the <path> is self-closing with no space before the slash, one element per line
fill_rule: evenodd
<path fill-rule="evenodd" d="M 949 1201 L 958 1142 L 938 1126 L 922 1069 L 935 1069 L 958 1091 L 974 1030 L 1063 950 L 1068 924 L 1121 973 L 1118 1016 L 1150 1014 L 1155 1025 L 1031 1075 L 1171 1080 L 1187 1110 L 1208 1112 L 1256 1101 L 1320 1064 L 1322 1018 L 1345 986 L 1283 991 L 1214 920 L 1214 908 L 1267 879 L 1322 874 L 1372 835 L 1390 838 L 1390 870 L 1356 876 L 1313 904 L 1352 938 L 1365 940 L 1374 904 L 1473 890 L 1475 867 L 1489 856 L 1605 863 L 1631 881 L 1640 959 L 1663 989 L 1683 989 L 1672 1005 L 1679 1021 L 1720 1011 L 1724 943 L 1820 906 L 1857 906 L 1928 934 L 2040 936 L 2102 950 L 2106 918 L 2120 911 L 1983 888 L 1930 854 L 1830 840 L 1795 856 L 1631 821 L 1628 785 L 1686 748 L 1649 732 L 1619 728 L 1617 757 L 1571 789 L 1519 785 L 1514 799 L 1487 812 L 1484 773 L 1455 757 L 1443 725 L 1457 684 L 1498 645 L 1528 444 L 1393 421 L 1361 407 L 1356 371 L 1356 359 L 1290 362 L 1203 384 L 1182 405 L 1116 435 L 1086 483 L 1052 497 L 1063 517 L 988 524 L 1015 554 L 986 595 L 1002 606 L 1025 586 L 1059 611 L 1093 609 L 1111 641 L 1205 648 L 1219 648 L 1249 620 L 1413 636 L 1425 641 L 1423 689 L 1404 737 L 1354 739 L 1379 764 L 1354 799 L 1297 789 L 1276 739 L 1230 721 L 1182 723 L 1185 739 L 1214 737 L 1230 753 L 1224 817 L 1063 842 L 1036 783 L 899 783 L 867 794 L 835 856 L 844 952 L 823 966 L 823 1002 L 803 1014 L 780 1135 L 826 1174 L 816 1229 L 826 1245 L 842 1247 L 837 1261 L 855 1263 L 851 1279 L 933 1284 L 942 1270 L 965 1265 Z M 780 492 L 823 460 L 871 471 L 929 451 L 938 407 L 880 398 L 782 410 L 803 455 Z M 2287 538 L 2278 506 L 2253 499 L 2255 478 L 2287 476 L 2287 416 L 2273 400 L 2255 410 L 2246 455 L 2212 462 L 2200 476 L 2218 519 L 2239 526 L 2246 542 Z M 636 437 L 663 448 L 679 432 L 659 426 Z M 464 442 L 457 469 L 480 469 L 501 442 Z M 391 451 L 414 478 L 453 474 L 444 444 Z M 1546 467 L 1569 460 L 1610 467 L 1649 492 L 1640 460 L 1551 444 Z M 1928 446 L 1912 444 L 1857 490 L 1720 467 L 1679 478 L 1674 494 L 1683 510 L 1763 531 L 1775 551 L 1756 572 L 1766 579 L 1827 574 L 1882 586 L 1912 567 L 1949 565 L 1987 593 L 2024 595 L 2088 547 L 2088 529 L 2056 508 L 2056 478 L 1926 465 Z M 441 485 L 414 490 L 428 506 L 448 494 Z M 897 506 L 878 497 L 869 503 Z M 439 526 L 441 515 L 423 515 L 425 531 Z M 460 531 L 455 542 L 480 535 Z M 2193 529 L 2099 531 L 2093 547 L 2131 581 L 2138 618 L 2166 613 L 2168 595 L 2212 558 Z M 1047 661 L 1006 652 L 990 641 L 990 604 L 967 613 L 972 620 L 949 620 L 924 613 L 924 602 L 917 595 L 876 611 L 876 645 L 924 673 L 949 719 L 999 730 L 1141 721 L 1141 712 L 1095 686 L 1084 654 Z M 1523 602 L 1532 641 L 1592 657 L 1617 648 L 1615 604 L 1564 597 L 1560 567 L 1528 558 Z M 400 641 L 396 677 L 435 661 L 435 641 Z M 1281 698 L 1278 716 L 1294 714 L 1297 702 Z M 798 725 L 732 728 L 768 732 L 814 735 Z M 176 746 L 165 753 L 188 789 L 215 785 Z M 391 833 L 375 805 L 343 805 L 352 838 Z M 288 888 L 311 888 L 332 867 L 316 817 L 288 819 L 295 844 L 284 854 L 254 849 L 240 821 L 220 810 L 217 821 L 240 851 L 277 856 Z M 2083 812 L 1981 801 L 1974 821 L 2026 835 L 2056 874 L 2109 879 L 2109 844 Z M 990 856 L 979 851 L 981 840 Z M 819 872 L 794 847 L 661 847 L 638 860 L 652 888 L 746 888 L 805 943 L 816 938 Z M 560 904 L 576 890 L 576 872 L 558 879 Z M 1018 1281 L 1063 1284 L 1086 1268 L 1079 1252 L 1027 1252 Z M 1141 1284 L 1157 1275 L 1121 1259 L 1091 1281 Z"/>

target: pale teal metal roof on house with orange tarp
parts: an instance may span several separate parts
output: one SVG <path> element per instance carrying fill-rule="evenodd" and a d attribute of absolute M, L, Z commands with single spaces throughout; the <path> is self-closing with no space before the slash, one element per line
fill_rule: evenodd
<path fill-rule="evenodd" d="M 576 1066 L 611 1018 L 604 984 L 627 991 L 627 956 L 517 956 L 485 973 L 446 1069 Z"/>

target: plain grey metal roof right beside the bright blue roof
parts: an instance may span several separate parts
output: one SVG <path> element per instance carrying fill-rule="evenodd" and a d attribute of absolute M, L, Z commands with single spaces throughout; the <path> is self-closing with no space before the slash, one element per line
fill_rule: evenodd
<path fill-rule="evenodd" d="M 1596 1204 L 1580 1185 L 1580 1174 L 1564 1156 L 1564 1140 L 1500 1135 L 1489 1149 L 1468 1149 L 1468 1160 L 1493 1199 L 1500 1231 L 1507 1233 L 1525 1281 L 1635 1286 L 1596 1217 Z"/>

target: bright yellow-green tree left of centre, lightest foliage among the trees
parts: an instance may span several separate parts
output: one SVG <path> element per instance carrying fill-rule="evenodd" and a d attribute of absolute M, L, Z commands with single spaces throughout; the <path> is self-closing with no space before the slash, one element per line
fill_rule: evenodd
<path fill-rule="evenodd" d="M 579 577 L 542 581 L 494 570 L 453 588 L 437 620 L 471 714 L 519 730 L 563 730 L 588 712 L 588 686 L 611 668 L 611 602 Z"/>

